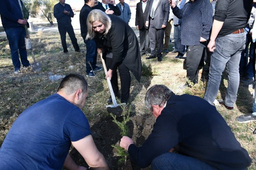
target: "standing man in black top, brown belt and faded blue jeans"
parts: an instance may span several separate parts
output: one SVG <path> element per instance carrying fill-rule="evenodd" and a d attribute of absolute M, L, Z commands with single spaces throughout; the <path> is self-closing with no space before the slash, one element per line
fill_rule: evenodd
<path fill-rule="evenodd" d="M 214 103 L 220 86 L 222 72 L 227 67 L 228 87 L 225 99 L 219 103 L 232 110 L 237 100 L 239 86 L 239 63 L 245 49 L 244 28 L 250 18 L 253 0 L 218 0 L 215 5 L 214 21 L 210 42 L 211 54 L 209 81 L 204 99 Z"/>

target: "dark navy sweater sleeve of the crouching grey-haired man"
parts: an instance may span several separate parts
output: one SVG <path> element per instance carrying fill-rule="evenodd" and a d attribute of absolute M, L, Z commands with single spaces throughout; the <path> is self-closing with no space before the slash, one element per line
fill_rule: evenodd
<path fill-rule="evenodd" d="M 148 167 L 156 157 L 168 152 L 182 139 L 181 127 L 171 114 L 164 113 L 157 118 L 154 128 L 141 147 L 131 144 L 128 153 L 141 168 Z"/>

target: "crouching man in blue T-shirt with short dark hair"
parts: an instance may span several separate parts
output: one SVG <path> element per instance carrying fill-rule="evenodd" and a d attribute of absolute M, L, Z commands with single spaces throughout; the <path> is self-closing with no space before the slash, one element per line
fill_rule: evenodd
<path fill-rule="evenodd" d="M 109 170 L 96 148 L 81 109 L 88 84 L 79 74 L 67 75 L 58 92 L 33 104 L 13 123 L 0 148 L 1 170 L 86 170 L 68 154 L 71 143 L 94 169 Z"/>

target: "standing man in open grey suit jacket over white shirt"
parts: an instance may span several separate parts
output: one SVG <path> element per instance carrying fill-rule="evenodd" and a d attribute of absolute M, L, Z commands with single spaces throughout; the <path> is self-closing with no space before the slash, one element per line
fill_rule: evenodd
<path fill-rule="evenodd" d="M 167 26 L 170 13 L 168 0 L 151 0 L 149 3 L 148 18 L 146 26 L 149 24 L 149 47 L 151 55 L 146 59 L 156 58 L 162 61 L 162 51 L 164 49 L 164 29 Z M 157 51 L 156 51 L 157 44 Z"/>

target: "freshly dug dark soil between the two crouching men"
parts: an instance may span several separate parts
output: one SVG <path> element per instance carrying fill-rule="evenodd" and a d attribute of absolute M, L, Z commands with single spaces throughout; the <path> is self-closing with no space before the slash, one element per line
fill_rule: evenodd
<path fill-rule="evenodd" d="M 110 115 L 98 117 L 92 125 L 92 137 L 97 148 L 104 155 L 110 168 L 113 170 L 139 170 L 138 165 L 129 156 L 127 157 L 126 164 L 118 164 L 120 157 L 116 155 L 115 148 L 111 145 L 119 145 L 122 136 L 120 135 L 120 129 L 112 120 L 113 118 Z M 122 117 L 117 117 L 117 120 L 122 122 Z M 152 131 L 154 122 L 155 117 L 151 114 L 131 114 L 127 125 L 129 127 L 129 137 L 133 139 L 136 146 L 141 146 L 144 143 Z M 71 156 L 78 164 L 86 165 L 83 157 L 75 149 L 71 151 Z"/>

